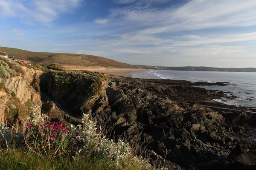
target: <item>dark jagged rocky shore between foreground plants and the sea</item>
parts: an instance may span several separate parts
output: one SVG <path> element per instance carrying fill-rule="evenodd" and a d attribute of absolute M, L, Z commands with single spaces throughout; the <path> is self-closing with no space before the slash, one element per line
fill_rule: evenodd
<path fill-rule="evenodd" d="M 88 113 L 113 127 L 109 137 L 139 141 L 152 164 L 172 170 L 256 169 L 255 113 L 201 106 L 233 97 L 195 87 L 212 83 L 87 71 L 49 71 L 40 79 L 42 109 L 51 119 L 79 124 L 81 113 Z"/>

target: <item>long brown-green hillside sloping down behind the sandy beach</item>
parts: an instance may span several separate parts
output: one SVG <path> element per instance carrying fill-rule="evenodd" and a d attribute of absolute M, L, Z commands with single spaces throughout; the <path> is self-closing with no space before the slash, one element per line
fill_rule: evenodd
<path fill-rule="evenodd" d="M 37 62 L 45 66 L 55 63 L 60 68 L 64 67 L 65 65 L 72 65 L 73 67 L 78 66 L 78 68 L 79 66 L 94 66 L 107 68 L 137 68 L 134 65 L 117 62 L 112 59 L 85 54 L 32 52 L 7 47 L 0 47 L 0 51 L 7 52 L 9 56 L 14 56 L 15 59 L 23 59 L 31 62 Z"/>

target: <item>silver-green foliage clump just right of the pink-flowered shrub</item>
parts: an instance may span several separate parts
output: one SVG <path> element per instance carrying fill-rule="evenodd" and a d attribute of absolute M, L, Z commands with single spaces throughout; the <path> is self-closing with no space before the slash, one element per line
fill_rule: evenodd
<path fill-rule="evenodd" d="M 107 139 L 104 135 L 99 134 L 100 130 L 97 130 L 98 126 L 96 122 L 89 119 L 88 114 L 83 114 L 82 125 L 78 126 L 79 136 L 77 139 L 83 142 L 82 147 L 79 150 L 79 156 L 88 156 L 93 154 L 108 164 L 109 167 L 121 168 L 127 163 L 127 160 L 131 161 L 131 164 L 137 164 L 144 166 L 145 169 L 154 169 L 147 159 L 135 156 L 134 150 L 128 143 L 118 140 Z"/>

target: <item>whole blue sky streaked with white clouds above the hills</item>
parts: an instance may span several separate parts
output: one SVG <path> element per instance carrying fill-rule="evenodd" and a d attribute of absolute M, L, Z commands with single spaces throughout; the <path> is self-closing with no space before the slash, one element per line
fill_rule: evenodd
<path fill-rule="evenodd" d="M 256 67 L 256 0 L 0 0 L 0 46 L 154 66 Z"/>

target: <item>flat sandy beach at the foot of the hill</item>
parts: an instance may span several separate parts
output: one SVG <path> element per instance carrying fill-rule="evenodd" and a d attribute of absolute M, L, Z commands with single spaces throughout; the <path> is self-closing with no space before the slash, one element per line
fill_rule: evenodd
<path fill-rule="evenodd" d="M 73 65 L 65 65 L 63 66 L 63 69 L 95 71 L 99 73 L 113 74 L 115 76 L 123 76 L 123 77 L 131 77 L 132 73 L 145 71 L 145 69 L 140 69 L 140 68 L 105 68 L 105 67 L 82 67 L 82 66 L 78 67 Z"/>

